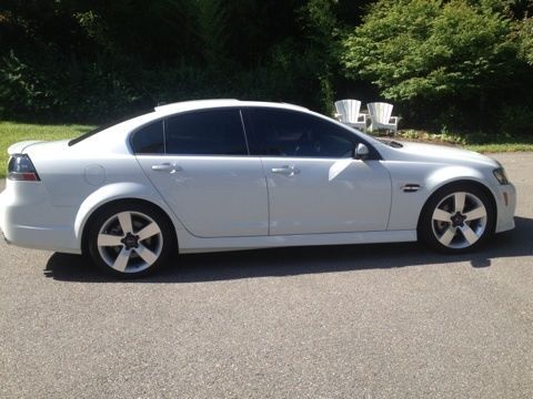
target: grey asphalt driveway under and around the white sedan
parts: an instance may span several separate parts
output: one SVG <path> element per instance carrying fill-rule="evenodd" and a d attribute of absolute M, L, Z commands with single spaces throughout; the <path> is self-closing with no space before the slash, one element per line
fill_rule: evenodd
<path fill-rule="evenodd" d="M 0 244 L 0 397 L 531 398 L 533 154 L 497 155 L 516 225 L 415 244 L 189 255 L 109 282 Z"/>

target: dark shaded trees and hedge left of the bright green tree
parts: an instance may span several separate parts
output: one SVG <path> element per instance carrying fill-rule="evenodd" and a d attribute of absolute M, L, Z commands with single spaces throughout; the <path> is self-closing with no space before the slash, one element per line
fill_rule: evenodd
<path fill-rule="evenodd" d="M 101 122 L 219 96 L 325 111 L 334 8 L 331 0 L 8 0 L 0 116 Z"/>

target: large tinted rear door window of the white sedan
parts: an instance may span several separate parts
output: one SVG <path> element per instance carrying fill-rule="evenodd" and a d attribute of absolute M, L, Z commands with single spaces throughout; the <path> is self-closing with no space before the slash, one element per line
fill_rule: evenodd
<path fill-rule="evenodd" d="M 168 154 L 248 155 L 239 110 L 192 112 L 169 117 Z"/>

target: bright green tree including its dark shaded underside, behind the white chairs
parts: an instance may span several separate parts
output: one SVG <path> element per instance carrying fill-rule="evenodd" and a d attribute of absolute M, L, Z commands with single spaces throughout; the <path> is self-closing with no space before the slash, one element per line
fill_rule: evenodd
<path fill-rule="evenodd" d="M 340 60 L 348 76 L 371 80 L 419 119 L 494 126 L 487 106 L 501 106 L 502 93 L 531 96 L 506 10 L 491 0 L 380 0 L 344 37 Z"/>

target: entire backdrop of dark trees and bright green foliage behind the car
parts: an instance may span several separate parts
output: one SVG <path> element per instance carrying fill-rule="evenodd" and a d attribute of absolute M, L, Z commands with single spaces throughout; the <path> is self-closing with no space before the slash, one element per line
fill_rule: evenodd
<path fill-rule="evenodd" d="M 532 133 L 532 13 L 530 0 L 3 0 L 0 117 L 102 123 L 204 98 L 331 114 L 342 96 L 389 99 L 404 126 Z"/>

